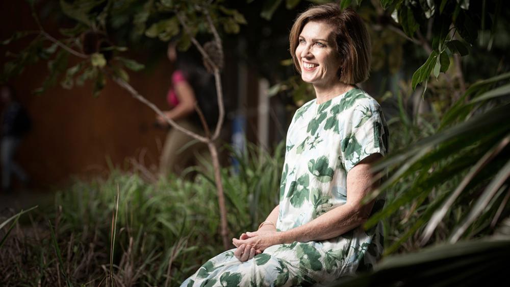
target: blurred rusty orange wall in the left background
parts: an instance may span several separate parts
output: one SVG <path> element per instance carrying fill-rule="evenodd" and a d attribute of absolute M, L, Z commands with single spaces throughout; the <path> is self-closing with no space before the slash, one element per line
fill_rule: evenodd
<path fill-rule="evenodd" d="M 34 29 L 29 15 L 24 1 L 1 2 L 0 40 L 16 30 Z M 0 47 L 2 66 L 8 60 L 5 52 L 19 49 L 21 44 Z M 150 71 L 130 73 L 131 84 L 160 108 L 166 108 L 170 72 L 168 61 L 162 58 Z M 155 113 L 148 107 L 110 81 L 98 98 L 92 96 L 91 83 L 72 90 L 56 86 L 42 95 L 32 94 L 46 75 L 46 63 L 41 62 L 9 82 L 33 119 L 33 129 L 19 148 L 18 162 L 36 186 L 59 183 L 70 175 L 102 173 L 107 170 L 107 157 L 123 169 L 131 168 L 124 164 L 126 158 L 141 155 L 146 166 L 157 166 L 166 132 L 152 127 Z"/>

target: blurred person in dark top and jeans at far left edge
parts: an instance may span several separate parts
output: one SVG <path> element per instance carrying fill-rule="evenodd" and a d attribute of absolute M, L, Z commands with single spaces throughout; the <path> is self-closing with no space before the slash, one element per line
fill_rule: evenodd
<path fill-rule="evenodd" d="M 14 161 L 16 151 L 23 136 L 30 131 L 31 121 L 27 111 L 16 100 L 14 89 L 10 86 L 0 88 L 0 98 L 4 106 L 2 111 L 2 190 L 11 189 L 11 175 L 22 183 L 27 183 L 27 173 Z"/>

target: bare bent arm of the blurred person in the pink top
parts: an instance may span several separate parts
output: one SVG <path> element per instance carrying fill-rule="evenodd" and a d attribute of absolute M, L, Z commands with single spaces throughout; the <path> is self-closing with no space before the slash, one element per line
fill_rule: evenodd
<path fill-rule="evenodd" d="M 195 93 L 193 88 L 187 81 L 180 81 L 174 87 L 179 104 L 169 111 L 165 111 L 166 117 L 173 119 L 174 121 L 191 114 L 195 109 Z M 167 124 L 166 119 L 158 116 L 158 122 L 161 124 Z"/>

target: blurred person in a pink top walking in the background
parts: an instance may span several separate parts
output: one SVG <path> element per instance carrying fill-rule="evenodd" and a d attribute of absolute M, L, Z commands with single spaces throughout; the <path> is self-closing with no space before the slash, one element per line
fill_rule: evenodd
<path fill-rule="evenodd" d="M 180 53 L 176 43 L 168 44 L 167 56 L 174 63 L 172 86 L 167 93 L 167 102 L 172 108 L 164 111 L 167 118 L 173 119 L 181 127 L 197 134 L 203 134 L 200 118 L 195 111 L 198 105 L 210 128 L 214 128 L 218 118 L 214 77 L 202 67 L 201 58 L 193 51 Z M 157 116 L 158 125 L 170 128 L 163 146 L 160 160 L 160 173 L 180 174 L 187 166 L 198 165 L 197 156 L 207 157 L 207 146 L 193 142 L 189 135 L 171 128 L 167 119 Z"/>

